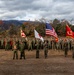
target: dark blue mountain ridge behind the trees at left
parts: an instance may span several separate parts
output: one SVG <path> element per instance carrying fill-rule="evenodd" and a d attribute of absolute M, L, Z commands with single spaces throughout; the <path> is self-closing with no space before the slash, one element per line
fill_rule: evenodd
<path fill-rule="evenodd" d="M 0 20 L 0 30 L 7 30 L 11 25 L 21 26 L 25 20 Z"/>

